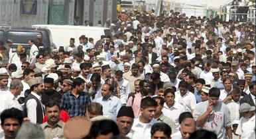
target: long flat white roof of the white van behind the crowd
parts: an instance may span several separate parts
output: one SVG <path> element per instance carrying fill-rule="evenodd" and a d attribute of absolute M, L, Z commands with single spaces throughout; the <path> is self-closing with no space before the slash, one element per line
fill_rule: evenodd
<path fill-rule="evenodd" d="M 73 26 L 73 25 L 56 25 L 56 24 L 34 24 L 32 25 L 32 28 L 84 28 L 84 29 L 94 29 L 94 30 L 102 30 L 102 29 L 109 29 L 101 26 Z"/>

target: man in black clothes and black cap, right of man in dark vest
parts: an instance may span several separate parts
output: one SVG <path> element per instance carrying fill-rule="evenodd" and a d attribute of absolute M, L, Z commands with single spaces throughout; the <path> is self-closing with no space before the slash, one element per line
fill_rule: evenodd
<path fill-rule="evenodd" d="M 53 78 L 44 78 L 44 92 L 42 93 L 42 104 L 46 105 L 49 99 L 54 99 L 55 101 L 60 102 L 61 94 L 54 90 L 54 79 Z"/>

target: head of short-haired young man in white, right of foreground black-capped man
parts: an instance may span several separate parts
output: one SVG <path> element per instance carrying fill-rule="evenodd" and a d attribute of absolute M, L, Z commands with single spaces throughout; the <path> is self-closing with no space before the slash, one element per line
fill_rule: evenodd
<path fill-rule="evenodd" d="M 141 99 L 141 116 L 139 119 L 143 123 L 149 123 L 155 116 L 157 102 L 151 97 Z"/>

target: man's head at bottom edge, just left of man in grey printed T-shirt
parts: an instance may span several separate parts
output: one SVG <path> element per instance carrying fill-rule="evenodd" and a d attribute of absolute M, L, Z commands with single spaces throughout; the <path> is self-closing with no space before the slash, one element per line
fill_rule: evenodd
<path fill-rule="evenodd" d="M 196 130 L 196 121 L 193 118 L 186 118 L 180 124 L 180 132 L 183 139 L 188 139 Z"/>

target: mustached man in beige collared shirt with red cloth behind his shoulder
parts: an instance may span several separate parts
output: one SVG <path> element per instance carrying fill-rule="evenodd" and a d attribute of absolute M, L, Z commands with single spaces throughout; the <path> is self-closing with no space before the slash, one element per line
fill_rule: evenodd
<path fill-rule="evenodd" d="M 60 106 L 56 101 L 48 101 L 46 105 L 46 116 L 48 117 L 48 121 L 41 125 L 45 137 L 63 138 L 64 123 L 60 121 Z"/>

